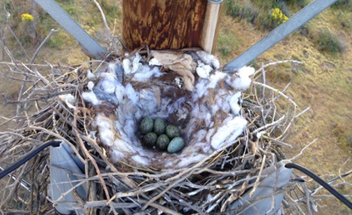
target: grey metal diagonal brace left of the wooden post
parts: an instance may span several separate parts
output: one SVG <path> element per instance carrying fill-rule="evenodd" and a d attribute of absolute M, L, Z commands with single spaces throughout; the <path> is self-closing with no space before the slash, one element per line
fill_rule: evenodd
<path fill-rule="evenodd" d="M 90 57 L 96 59 L 105 55 L 105 50 L 84 31 L 54 0 L 34 0 L 67 32 L 69 32 Z"/>

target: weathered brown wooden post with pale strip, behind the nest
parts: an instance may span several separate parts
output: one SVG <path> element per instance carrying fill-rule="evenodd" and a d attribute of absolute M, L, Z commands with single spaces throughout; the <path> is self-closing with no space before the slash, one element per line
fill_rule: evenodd
<path fill-rule="evenodd" d="M 223 3 L 222 3 L 223 4 Z M 207 0 L 123 0 L 122 38 L 128 49 L 215 49 L 222 4 Z"/>

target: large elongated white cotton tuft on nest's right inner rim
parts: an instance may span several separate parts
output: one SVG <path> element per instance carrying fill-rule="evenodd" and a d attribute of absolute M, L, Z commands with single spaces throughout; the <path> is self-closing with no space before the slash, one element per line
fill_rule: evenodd
<path fill-rule="evenodd" d="M 219 149 L 222 146 L 231 143 L 243 133 L 246 125 L 247 121 L 241 116 L 236 116 L 230 121 L 225 122 L 224 125 L 218 127 L 213 135 L 211 145 L 213 148 Z"/>

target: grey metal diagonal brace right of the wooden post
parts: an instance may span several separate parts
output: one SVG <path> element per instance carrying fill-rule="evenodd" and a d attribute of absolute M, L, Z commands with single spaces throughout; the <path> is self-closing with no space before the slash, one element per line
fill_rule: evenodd
<path fill-rule="evenodd" d="M 278 26 L 267 36 L 261 39 L 259 42 L 251 46 L 245 52 L 241 53 L 240 56 L 235 58 L 233 61 L 225 65 L 225 71 L 238 70 L 249 62 L 253 61 L 263 52 L 271 48 L 271 46 L 280 42 L 282 39 L 287 37 L 290 33 L 298 29 L 304 23 L 318 15 L 320 12 L 325 10 L 327 7 L 332 5 L 337 0 L 315 0 L 298 13 L 289 18 L 285 23 Z"/>

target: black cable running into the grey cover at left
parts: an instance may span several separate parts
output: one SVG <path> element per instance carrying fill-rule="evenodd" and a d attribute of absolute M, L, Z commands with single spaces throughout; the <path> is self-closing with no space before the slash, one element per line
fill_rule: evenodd
<path fill-rule="evenodd" d="M 7 176 L 8 174 L 10 174 L 12 171 L 14 171 L 18 167 L 20 167 L 21 165 L 26 163 L 32 157 L 36 156 L 39 152 L 43 151 L 44 148 L 46 148 L 48 146 L 57 147 L 57 146 L 60 145 L 60 143 L 61 143 L 61 141 L 51 140 L 51 141 L 43 143 L 42 145 L 38 146 L 37 148 L 34 148 L 34 150 L 32 150 L 28 154 L 26 154 L 26 156 L 24 156 L 24 158 L 22 158 L 21 160 L 19 160 L 16 163 L 14 163 L 12 166 L 10 166 L 9 168 L 5 169 L 4 171 L 0 172 L 0 179 L 5 177 L 5 176 Z"/>

